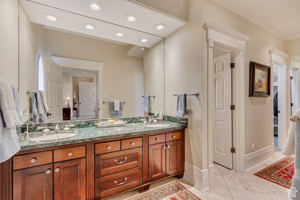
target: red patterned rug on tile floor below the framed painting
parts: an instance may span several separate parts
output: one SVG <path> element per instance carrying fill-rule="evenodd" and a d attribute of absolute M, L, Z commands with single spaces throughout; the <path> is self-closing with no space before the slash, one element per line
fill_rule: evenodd
<path fill-rule="evenodd" d="M 254 175 L 286 188 L 292 187 L 295 157 L 287 156 Z"/>

